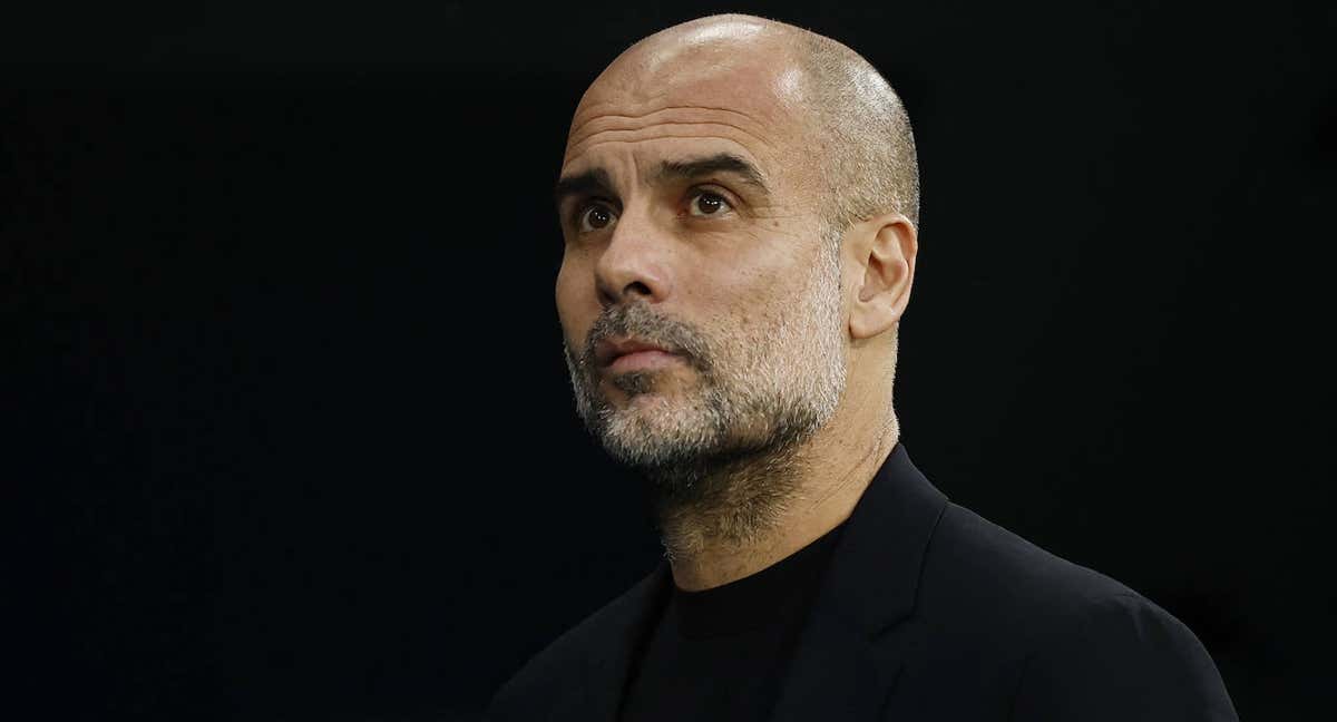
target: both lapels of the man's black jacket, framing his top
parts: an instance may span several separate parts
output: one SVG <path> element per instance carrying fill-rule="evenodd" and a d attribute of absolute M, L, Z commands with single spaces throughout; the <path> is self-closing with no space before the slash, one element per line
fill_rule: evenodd
<path fill-rule="evenodd" d="M 886 632 L 915 608 L 924 552 L 945 507 L 947 497 L 897 444 L 841 532 L 773 719 L 877 714 L 901 666 L 902 644 Z M 668 564 L 660 562 L 608 610 L 612 646 L 586 660 L 579 718 L 616 719 L 670 584 Z"/>

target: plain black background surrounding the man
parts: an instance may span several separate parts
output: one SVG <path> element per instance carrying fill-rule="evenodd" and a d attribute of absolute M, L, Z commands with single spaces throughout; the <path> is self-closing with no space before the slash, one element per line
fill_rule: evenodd
<path fill-rule="evenodd" d="M 11 17 L 7 705 L 469 719 L 648 571 L 571 408 L 551 186 L 623 47 L 750 9 L 915 120 L 920 468 L 1183 619 L 1243 718 L 1298 715 L 1337 610 L 1337 15 L 1071 5 Z"/>

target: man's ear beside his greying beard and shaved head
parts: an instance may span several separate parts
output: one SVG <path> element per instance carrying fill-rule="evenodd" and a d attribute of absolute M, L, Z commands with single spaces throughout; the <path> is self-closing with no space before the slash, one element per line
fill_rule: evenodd
<path fill-rule="evenodd" d="M 878 215 L 849 229 L 846 249 L 854 271 L 862 271 L 849 314 L 853 338 L 872 338 L 900 322 L 910 299 L 919 231 L 898 213 Z"/>

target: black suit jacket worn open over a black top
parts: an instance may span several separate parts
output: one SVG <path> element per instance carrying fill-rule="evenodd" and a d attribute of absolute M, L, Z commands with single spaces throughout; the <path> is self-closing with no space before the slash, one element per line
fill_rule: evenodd
<path fill-rule="evenodd" d="M 489 719 L 612 722 L 671 583 L 660 563 L 562 635 Z M 1237 717 L 1178 619 L 952 504 L 897 445 L 846 523 L 771 719 Z"/>

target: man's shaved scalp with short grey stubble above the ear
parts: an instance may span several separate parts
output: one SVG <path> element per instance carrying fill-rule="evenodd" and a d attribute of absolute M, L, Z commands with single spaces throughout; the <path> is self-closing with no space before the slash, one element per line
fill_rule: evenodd
<path fill-rule="evenodd" d="M 713 15 L 666 28 L 615 59 L 591 84 L 582 108 L 604 94 L 650 99 L 697 74 L 745 83 L 721 72 L 745 57 L 785 68 L 769 90 L 800 123 L 804 138 L 792 140 L 810 151 L 802 160 L 817 174 L 814 210 L 828 229 L 838 233 L 890 211 L 919 225 L 919 162 L 900 96 L 861 55 L 808 29 L 750 15 Z M 580 116 L 578 110 L 572 136 Z"/>

